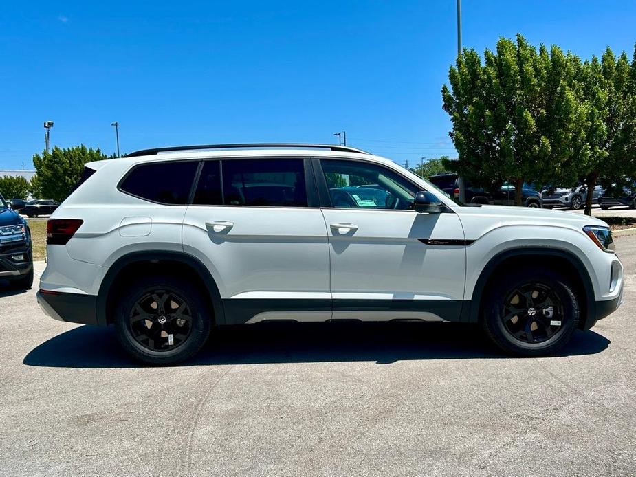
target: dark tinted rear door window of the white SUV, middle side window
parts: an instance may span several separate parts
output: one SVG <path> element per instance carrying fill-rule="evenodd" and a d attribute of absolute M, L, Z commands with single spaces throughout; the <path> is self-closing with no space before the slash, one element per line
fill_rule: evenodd
<path fill-rule="evenodd" d="M 307 207 L 303 159 L 223 161 L 228 206 Z"/>

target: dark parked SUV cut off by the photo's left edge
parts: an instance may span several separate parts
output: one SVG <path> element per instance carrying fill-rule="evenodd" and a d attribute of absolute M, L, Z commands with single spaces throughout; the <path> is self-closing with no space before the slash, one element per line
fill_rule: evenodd
<path fill-rule="evenodd" d="M 0 280 L 14 288 L 33 285 L 33 251 L 31 232 L 17 210 L 0 194 Z"/>

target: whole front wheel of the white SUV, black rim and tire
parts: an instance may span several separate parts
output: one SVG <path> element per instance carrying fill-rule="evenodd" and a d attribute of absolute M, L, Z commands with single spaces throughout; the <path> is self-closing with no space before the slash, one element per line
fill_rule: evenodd
<path fill-rule="evenodd" d="M 530 290 L 525 292 L 529 298 L 523 295 L 525 290 Z M 518 307 L 510 304 L 515 298 Z M 578 327 L 578 300 L 569 280 L 556 271 L 528 268 L 500 274 L 485 300 L 483 328 L 507 353 L 549 355 L 567 344 Z M 534 300 L 540 302 L 535 304 Z M 547 303 L 551 305 L 545 306 Z M 552 324 L 556 322 L 560 324 Z"/>

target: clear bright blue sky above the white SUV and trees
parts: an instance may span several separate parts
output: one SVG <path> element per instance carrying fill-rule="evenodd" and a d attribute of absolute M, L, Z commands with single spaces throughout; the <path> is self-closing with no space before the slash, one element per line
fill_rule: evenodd
<path fill-rule="evenodd" d="M 31 1 L 0 16 L 0 169 L 52 144 L 122 152 L 347 142 L 404 164 L 454 155 L 441 85 L 454 0 Z M 463 45 L 524 34 L 584 58 L 632 54 L 634 1 L 464 0 Z"/>

